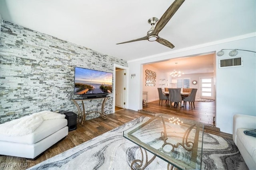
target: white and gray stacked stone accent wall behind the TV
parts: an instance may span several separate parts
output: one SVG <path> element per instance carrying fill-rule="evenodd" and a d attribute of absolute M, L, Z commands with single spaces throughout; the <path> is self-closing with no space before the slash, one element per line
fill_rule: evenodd
<path fill-rule="evenodd" d="M 8 21 L 0 34 L 0 123 L 43 110 L 74 111 L 74 66 L 113 72 L 126 61 Z M 113 84 L 114 87 L 114 84 Z M 113 94 L 105 105 L 112 113 Z M 100 100 L 85 102 L 88 113 Z M 90 113 L 86 119 L 100 116 Z"/>

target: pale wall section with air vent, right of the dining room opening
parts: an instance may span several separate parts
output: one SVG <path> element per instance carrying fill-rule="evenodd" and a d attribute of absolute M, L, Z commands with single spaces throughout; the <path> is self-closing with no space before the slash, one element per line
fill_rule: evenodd
<path fill-rule="evenodd" d="M 256 51 L 256 39 L 225 43 L 223 48 Z M 225 52 L 217 60 L 230 58 Z M 216 123 L 226 133 L 232 133 L 235 114 L 256 115 L 256 53 L 239 51 L 240 56 L 244 66 L 216 70 Z"/>

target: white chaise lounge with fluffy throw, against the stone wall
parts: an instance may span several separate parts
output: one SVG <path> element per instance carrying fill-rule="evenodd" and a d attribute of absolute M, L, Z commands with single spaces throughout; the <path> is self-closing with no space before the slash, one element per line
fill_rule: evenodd
<path fill-rule="evenodd" d="M 36 127 L 34 131 L 32 130 L 31 133 L 26 132 L 21 135 L 17 135 L 15 133 L 6 134 L 6 132 L 2 129 L 5 123 L 1 124 L 1 127 L 0 127 L 1 128 L 1 133 L 0 133 L 0 154 L 1 155 L 36 159 L 46 149 L 48 149 L 49 147 L 51 147 L 61 139 L 64 139 L 68 135 L 68 127 L 67 127 L 68 121 L 67 119 L 65 119 L 65 115 L 61 115 L 61 114 L 50 112 L 50 111 L 42 111 L 39 113 L 35 113 L 35 115 L 37 115 L 36 119 L 38 119 L 38 115 L 39 115 L 39 119 L 41 120 L 41 122 L 36 123 L 34 119 L 32 119 L 32 123 L 40 124 L 40 125 L 38 125 L 38 127 Z M 22 118 L 20 119 L 22 120 Z M 15 119 L 14 121 L 17 122 L 17 120 L 18 119 Z M 26 121 L 24 122 L 22 124 L 26 124 Z M 17 128 L 18 126 L 15 126 L 14 131 Z M 30 129 L 33 129 L 33 128 L 34 127 L 31 127 L 30 125 L 28 125 L 28 131 L 30 131 Z M 23 130 L 24 130 L 24 127 L 23 127 Z"/>

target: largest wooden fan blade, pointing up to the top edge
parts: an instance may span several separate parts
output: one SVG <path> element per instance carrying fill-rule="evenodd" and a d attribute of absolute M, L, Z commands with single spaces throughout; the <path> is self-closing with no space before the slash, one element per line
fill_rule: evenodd
<path fill-rule="evenodd" d="M 156 27 L 151 35 L 158 35 L 158 33 L 164 28 L 168 21 L 172 18 L 175 12 L 180 8 L 185 0 L 175 0 L 172 5 L 164 12 L 163 16 L 160 18 Z"/>

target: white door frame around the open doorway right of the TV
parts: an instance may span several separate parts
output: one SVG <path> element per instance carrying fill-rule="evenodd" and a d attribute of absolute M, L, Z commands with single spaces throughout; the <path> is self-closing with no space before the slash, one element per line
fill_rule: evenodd
<path fill-rule="evenodd" d="M 114 70 L 113 70 L 113 87 L 116 86 L 116 68 L 121 68 L 123 70 L 125 70 L 126 73 L 126 78 L 125 78 L 125 82 L 124 82 L 124 86 L 126 88 L 126 90 L 124 90 L 124 101 L 125 101 L 125 105 L 128 106 L 128 67 L 125 66 L 121 66 L 118 64 L 114 64 Z M 116 105 L 116 88 L 113 88 L 113 113 L 115 113 L 115 105 Z"/>

